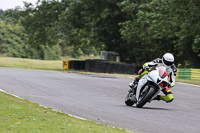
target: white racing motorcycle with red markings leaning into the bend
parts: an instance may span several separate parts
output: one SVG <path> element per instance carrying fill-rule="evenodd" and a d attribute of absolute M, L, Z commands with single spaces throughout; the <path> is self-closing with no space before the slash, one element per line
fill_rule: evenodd
<path fill-rule="evenodd" d="M 142 108 L 147 102 L 151 102 L 160 91 L 169 86 L 167 68 L 165 66 L 152 67 L 148 70 L 149 73 L 144 75 L 138 82 L 129 90 L 125 98 L 125 104 Z"/>

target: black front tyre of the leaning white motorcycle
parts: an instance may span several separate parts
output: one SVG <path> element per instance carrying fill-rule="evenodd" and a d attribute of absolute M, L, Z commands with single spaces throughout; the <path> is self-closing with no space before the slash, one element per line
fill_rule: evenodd
<path fill-rule="evenodd" d="M 143 94 L 140 95 L 138 103 L 136 104 L 137 108 L 142 108 L 156 93 L 156 90 L 153 87 L 150 87 L 147 91 L 142 92 Z"/>

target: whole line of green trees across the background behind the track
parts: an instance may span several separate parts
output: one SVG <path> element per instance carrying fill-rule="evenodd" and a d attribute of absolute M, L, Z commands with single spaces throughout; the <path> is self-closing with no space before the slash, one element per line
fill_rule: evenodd
<path fill-rule="evenodd" d="M 141 65 L 175 56 L 175 64 L 200 67 L 199 0 L 38 0 L 0 10 L 0 54 L 58 59 L 118 52 Z"/>

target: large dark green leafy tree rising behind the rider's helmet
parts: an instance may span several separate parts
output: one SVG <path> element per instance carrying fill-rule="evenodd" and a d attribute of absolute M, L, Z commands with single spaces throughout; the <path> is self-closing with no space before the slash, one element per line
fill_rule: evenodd
<path fill-rule="evenodd" d="M 141 57 L 140 61 L 161 56 L 165 52 L 175 55 L 176 63 L 199 67 L 199 3 L 192 1 L 130 1 L 120 4 L 129 16 L 122 22 L 122 38 L 136 53 L 127 56 Z M 142 49 L 137 52 L 136 48 Z"/>

